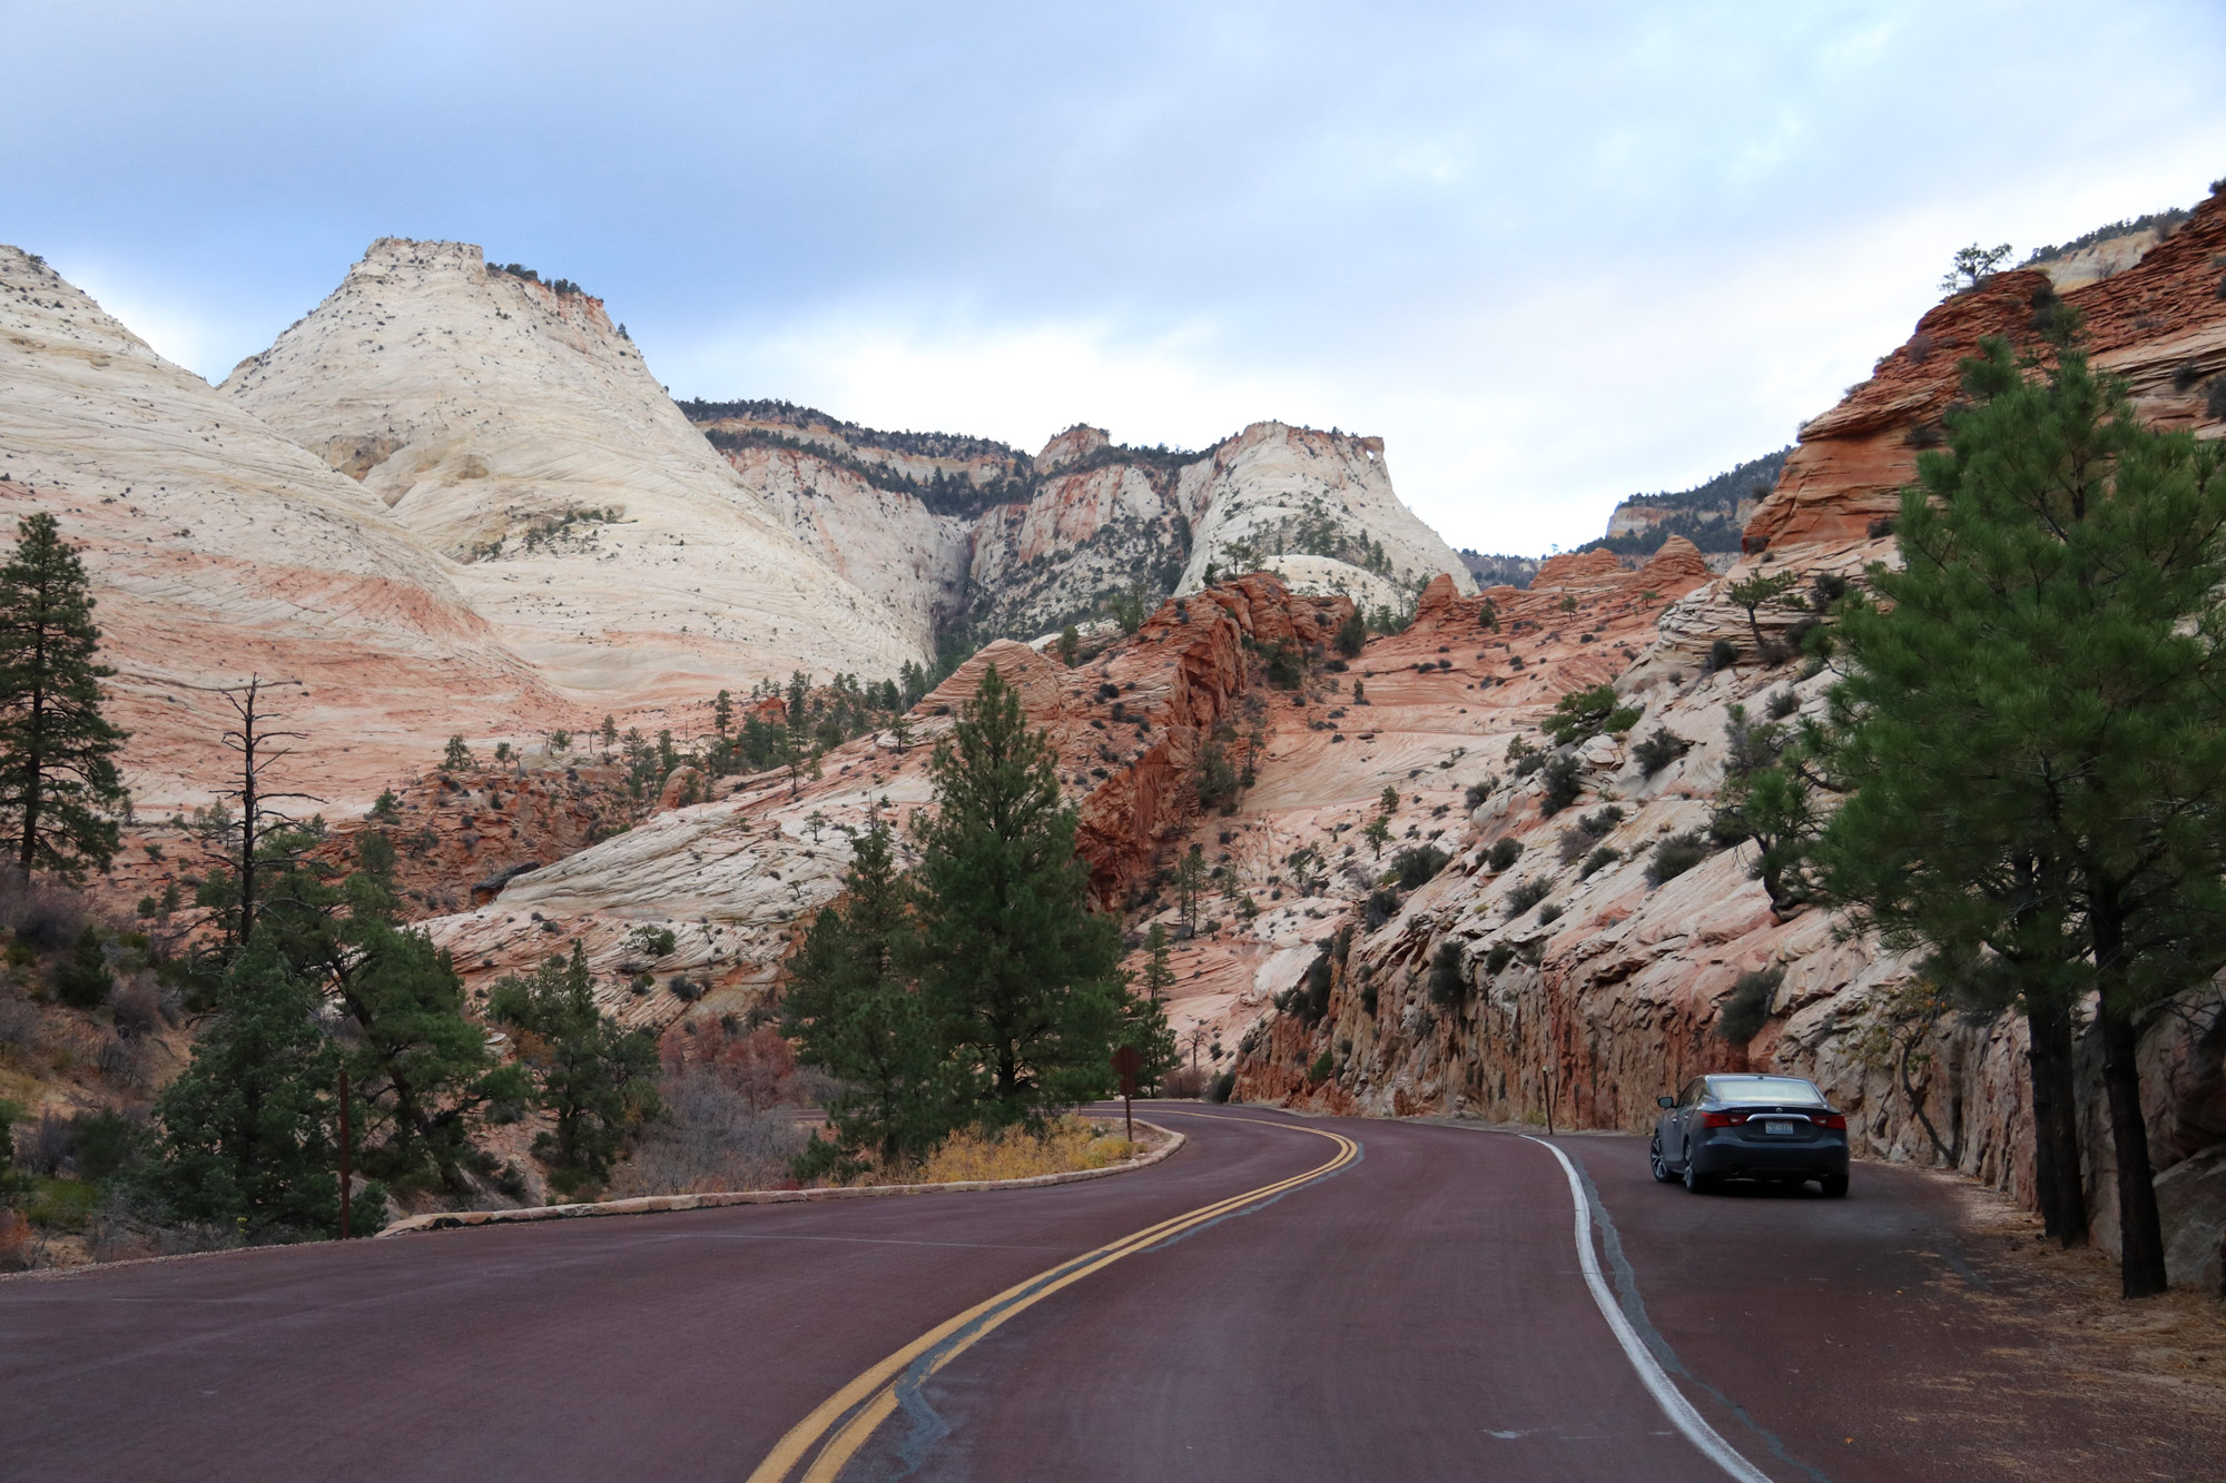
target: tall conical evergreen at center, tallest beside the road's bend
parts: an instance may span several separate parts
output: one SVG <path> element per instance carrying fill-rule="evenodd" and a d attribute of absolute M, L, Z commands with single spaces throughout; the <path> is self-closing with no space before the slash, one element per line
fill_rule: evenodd
<path fill-rule="evenodd" d="M 1126 989 L 1120 926 L 1091 911 L 1057 757 L 991 666 L 930 764 L 915 875 L 922 986 L 988 1122 L 1111 1084 Z"/>

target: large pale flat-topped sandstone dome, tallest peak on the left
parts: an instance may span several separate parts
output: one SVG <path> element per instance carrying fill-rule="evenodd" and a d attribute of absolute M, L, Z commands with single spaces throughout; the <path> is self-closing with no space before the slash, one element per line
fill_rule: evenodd
<path fill-rule="evenodd" d="M 590 704 L 928 657 L 688 425 L 603 303 L 381 238 L 220 387 L 361 481 Z"/>

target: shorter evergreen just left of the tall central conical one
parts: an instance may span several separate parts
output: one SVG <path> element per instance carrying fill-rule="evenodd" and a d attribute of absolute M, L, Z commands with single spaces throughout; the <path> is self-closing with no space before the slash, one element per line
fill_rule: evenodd
<path fill-rule="evenodd" d="M 833 1138 L 806 1151 L 799 1176 L 841 1171 L 859 1153 L 881 1167 L 915 1160 L 964 1113 L 915 960 L 888 826 L 875 817 L 857 837 L 844 897 L 812 920 L 781 1002 L 797 1060 L 844 1082 L 828 1102 Z"/>

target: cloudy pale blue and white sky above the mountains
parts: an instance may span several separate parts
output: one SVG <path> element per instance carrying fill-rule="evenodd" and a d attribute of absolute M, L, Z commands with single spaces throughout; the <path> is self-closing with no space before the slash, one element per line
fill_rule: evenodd
<path fill-rule="evenodd" d="M 211 381 L 376 236 L 674 394 L 1382 434 L 1456 546 L 1781 448 L 1972 240 L 2226 176 L 2226 4 L 0 0 L 0 240 Z"/>

